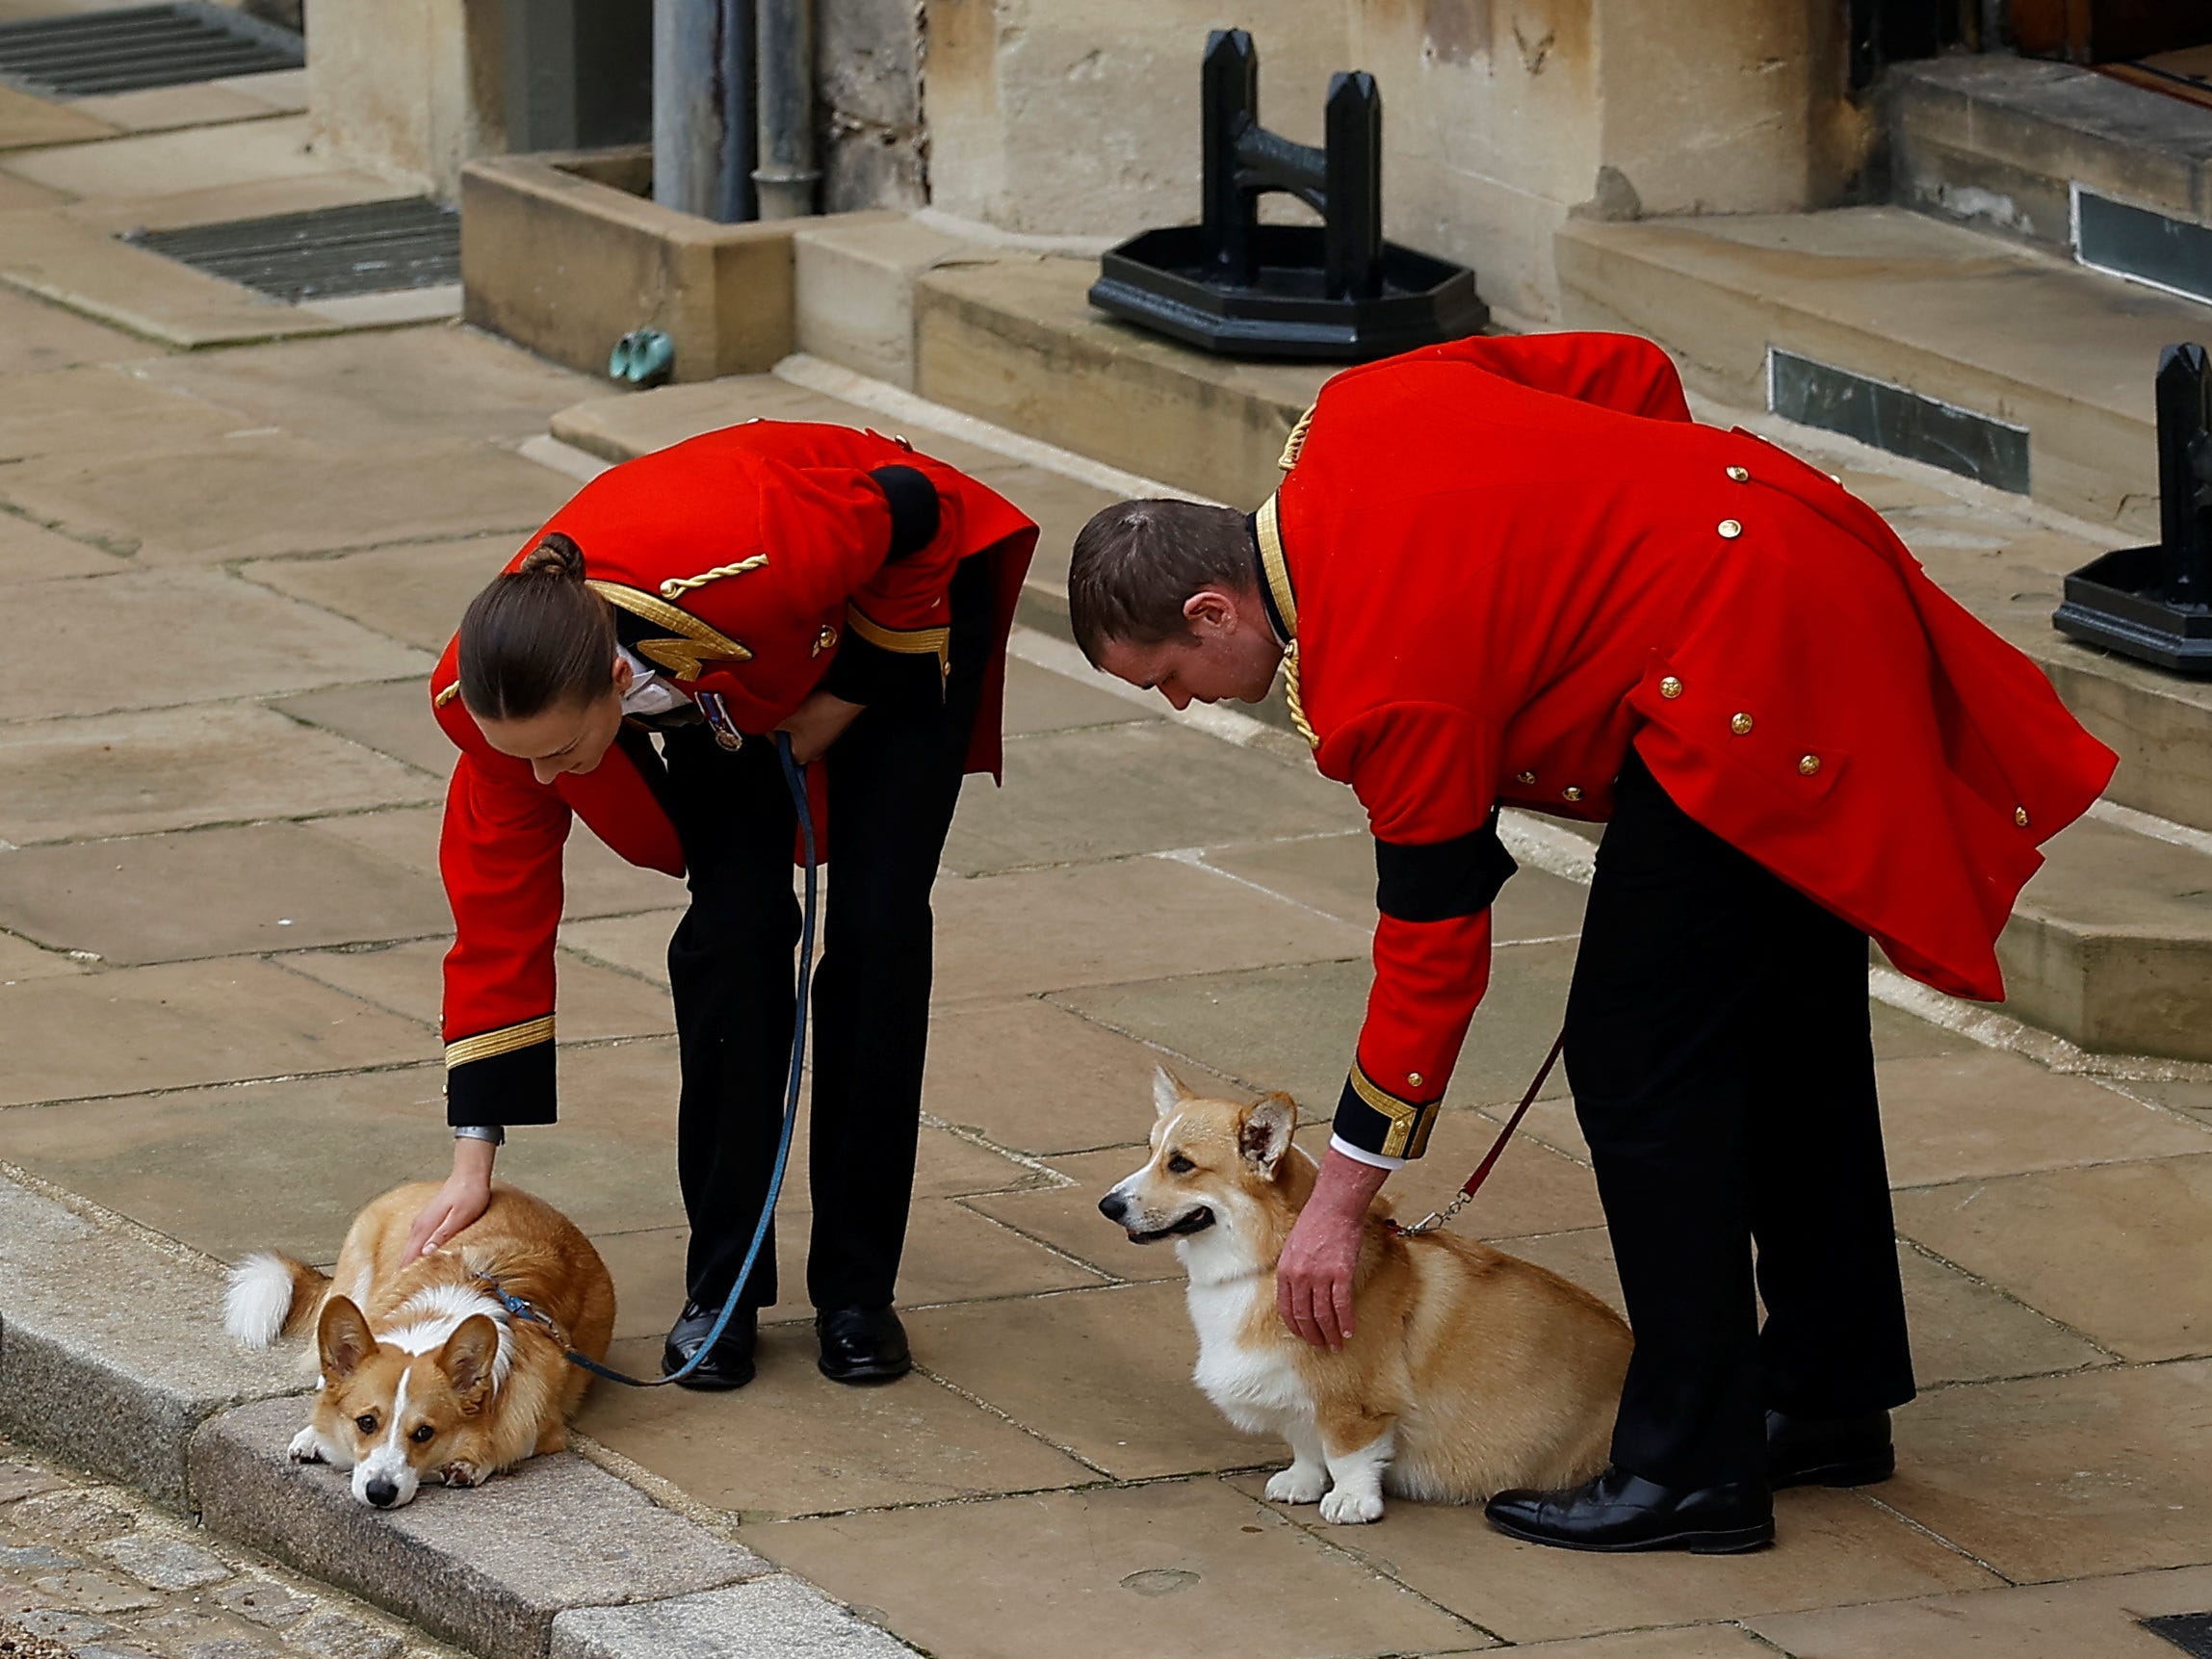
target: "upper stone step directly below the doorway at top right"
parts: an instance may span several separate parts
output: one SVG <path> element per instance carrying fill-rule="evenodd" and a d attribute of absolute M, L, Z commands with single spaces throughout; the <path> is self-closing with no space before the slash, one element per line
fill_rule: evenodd
<path fill-rule="evenodd" d="M 2075 188 L 2212 226 L 2212 111 L 2077 64 L 1966 55 L 1891 71 L 1905 206 L 2075 250 Z M 2095 248 L 2093 248 L 2095 252 Z"/>

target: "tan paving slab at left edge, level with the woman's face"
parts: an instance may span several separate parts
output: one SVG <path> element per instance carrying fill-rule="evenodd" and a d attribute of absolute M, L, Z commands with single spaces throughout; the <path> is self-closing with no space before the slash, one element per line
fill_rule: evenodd
<path fill-rule="evenodd" d="M 420 805 L 418 768 L 252 703 L 0 726 L 0 841 L 84 841 Z"/>

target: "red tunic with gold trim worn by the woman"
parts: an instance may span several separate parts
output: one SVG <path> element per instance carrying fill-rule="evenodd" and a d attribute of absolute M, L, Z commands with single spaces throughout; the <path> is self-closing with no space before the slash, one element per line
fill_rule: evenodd
<path fill-rule="evenodd" d="M 723 697 L 750 734 L 772 732 L 832 670 L 854 701 L 914 686 L 914 672 L 940 695 L 953 573 L 967 557 L 989 560 L 993 655 L 969 770 L 998 772 L 1006 633 L 1037 526 L 905 440 L 752 420 L 608 469 L 507 568 L 549 533 L 584 551 L 584 577 L 617 608 L 624 644 L 681 692 Z M 447 1117 L 549 1124 L 571 818 L 633 865 L 681 876 L 684 852 L 624 745 L 553 783 L 493 750 L 460 703 L 456 644 L 431 675 L 438 723 L 460 748 L 438 854 L 456 933 L 445 958 Z"/>

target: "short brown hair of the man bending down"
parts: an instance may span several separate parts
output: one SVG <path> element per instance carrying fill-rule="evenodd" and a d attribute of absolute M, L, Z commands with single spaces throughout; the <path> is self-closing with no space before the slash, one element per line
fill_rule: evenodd
<path fill-rule="evenodd" d="M 1183 602 L 1208 586 L 1259 588 L 1243 513 L 1199 502 L 1117 502 L 1084 524 L 1068 560 L 1075 644 L 1095 668 L 1115 639 L 1186 639 Z"/>

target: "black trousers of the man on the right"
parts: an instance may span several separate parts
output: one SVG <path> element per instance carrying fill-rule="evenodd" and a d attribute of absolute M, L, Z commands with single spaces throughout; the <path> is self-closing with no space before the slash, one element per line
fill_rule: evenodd
<path fill-rule="evenodd" d="M 1867 938 L 1692 823 L 1635 754 L 1597 849 L 1566 1068 L 1637 1336 L 1617 1467 L 1763 1480 L 1767 1407 L 1913 1396 Z"/>

